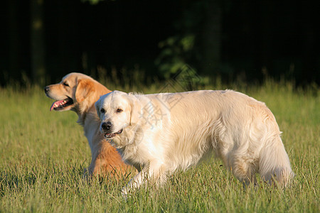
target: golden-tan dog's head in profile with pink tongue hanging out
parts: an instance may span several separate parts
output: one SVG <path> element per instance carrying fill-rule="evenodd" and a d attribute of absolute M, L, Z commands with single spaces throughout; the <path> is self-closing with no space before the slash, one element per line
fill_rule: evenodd
<path fill-rule="evenodd" d="M 54 99 L 50 110 L 66 111 L 74 110 L 81 112 L 94 104 L 100 95 L 110 92 L 91 77 L 72 72 L 63 77 L 58 84 L 46 86 L 47 97 Z"/>

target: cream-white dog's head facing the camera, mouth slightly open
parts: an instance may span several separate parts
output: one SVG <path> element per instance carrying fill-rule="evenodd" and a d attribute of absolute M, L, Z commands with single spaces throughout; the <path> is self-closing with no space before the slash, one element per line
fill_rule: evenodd
<path fill-rule="evenodd" d="M 132 94 L 114 91 L 105 94 L 95 103 L 101 120 L 100 131 L 111 140 L 119 137 L 127 128 L 137 124 L 139 111 L 134 110 L 139 102 Z"/>

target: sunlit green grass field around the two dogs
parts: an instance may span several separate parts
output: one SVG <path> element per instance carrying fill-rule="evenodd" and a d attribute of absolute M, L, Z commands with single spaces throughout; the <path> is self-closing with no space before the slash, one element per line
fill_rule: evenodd
<path fill-rule="evenodd" d="M 142 188 L 126 201 L 120 190 L 128 180 L 82 179 L 90 148 L 74 112 L 50 112 L 53 101 L 38 87 L 5 88 L 0 89 L 0 212 L 320 212 L 319 90 L 272 80 L 262 87 L 228 89 L 265 102 L 274 113 L 296 173 L 292 187 L 261 182 L 244 190 L 219 159 L 211 158 L 171 176 L 160 190 Z"/>

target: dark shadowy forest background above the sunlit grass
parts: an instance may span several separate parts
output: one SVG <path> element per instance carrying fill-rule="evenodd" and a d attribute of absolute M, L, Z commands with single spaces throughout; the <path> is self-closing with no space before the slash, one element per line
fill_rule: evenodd
<path fill-rule="evenodd" d="M 119 79 L 139 71 L 142 82 L 166 80 L 188 64 L 225 82 L 319 85 L 314 2 L 4 0 L 0 84 L 112 70 Z"/>

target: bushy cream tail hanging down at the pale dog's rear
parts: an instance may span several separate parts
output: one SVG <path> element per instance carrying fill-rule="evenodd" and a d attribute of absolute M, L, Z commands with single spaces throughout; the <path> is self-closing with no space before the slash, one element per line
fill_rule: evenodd
<path fill-rule="evenodd" d="M 278 184 L 286 187 L 294 177 L 294 173 L 282 140 L 280 136 L 273 136 L 266 142 L 260 155 L 259 173 L 270 185 Z"/>

